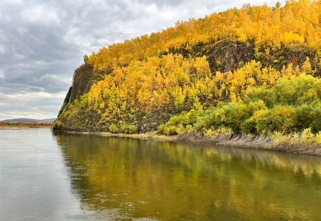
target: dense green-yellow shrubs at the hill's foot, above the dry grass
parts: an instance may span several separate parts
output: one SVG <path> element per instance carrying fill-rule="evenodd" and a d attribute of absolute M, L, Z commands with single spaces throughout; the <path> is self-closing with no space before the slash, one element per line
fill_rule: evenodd
<path fill-rule="evenodd" d="M 304 74 L 281 78 L 272 88 L 252 89 L 244 101 L 182 112 L 159 126 L 158 132 L 173 135 L 193 131 L 212 136 L 217 128 L 229 128 L 233 133 L 268 135 L 277 131 L 301 139 L 306 128 L 310 128 L 311 133 L 321 131 L 320 96 L 318 78 Z M 295 131 L 298 133 L 294 134 Z M 296 142 L 294 138 L 292 141 Z"/>

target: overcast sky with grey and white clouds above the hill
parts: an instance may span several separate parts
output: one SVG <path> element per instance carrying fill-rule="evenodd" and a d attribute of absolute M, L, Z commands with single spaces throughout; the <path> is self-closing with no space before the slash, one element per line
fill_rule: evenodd
<path fill-rule="evenodd" d="M 276 1 L 1 0 L 0 120 L 56 117 L 74 69 L 101 46 L 243 3 Z"/>

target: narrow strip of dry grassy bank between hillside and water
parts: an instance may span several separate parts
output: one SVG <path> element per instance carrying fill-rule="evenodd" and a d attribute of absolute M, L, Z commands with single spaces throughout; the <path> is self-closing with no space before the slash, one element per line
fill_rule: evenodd
<path fill-rule="evenodd" d="M 72 133 L 72 134 L 93 134 L 99 136 L 117 136 L 128 137 L 138 139 L 154 139 L 165 141 L 183 141 L 193 143 L 204 143 L 222 146 L 232 146 L 240 148 L 251 149 L 265 149 L 279 152 L 292 152 L 300 154 L 321 155 L 321 146 L 314 145 L 312 143 L 299 142 L 296 144 L 288 142 L 281 142 L 276 144 L 269 137 L 260 136 L 246 136 L 246 135 L 234 135 L 234 136 L 217 136 L 217 137 L 200 137 L 197 135 L 158 135 L 152 133 L 110 133 L 110 132 L 93 132 L 93 131 L 68 131 L 68 130 L 56 130 L 54 132 Z"/>

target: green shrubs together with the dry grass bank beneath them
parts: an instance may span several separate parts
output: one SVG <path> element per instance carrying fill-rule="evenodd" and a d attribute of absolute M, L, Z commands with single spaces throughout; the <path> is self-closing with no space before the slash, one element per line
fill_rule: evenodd
<path fill-rule="evenodd" d="M 173 116 L 158 133 L 222 145 L 321 154 L 321 80 L 300 73 L 238 102 Z"/>

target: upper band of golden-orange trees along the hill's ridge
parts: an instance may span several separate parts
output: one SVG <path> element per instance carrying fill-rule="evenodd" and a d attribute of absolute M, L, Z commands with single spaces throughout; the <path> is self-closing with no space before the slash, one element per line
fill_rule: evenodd
<path fill-rule="evenodd" d="M 242 42 L 254 39 L 257 45 L 273 42 L 272 48 L 279 47 L 281 43 L 320 45 L 320 12 L 318 0 L 291 0 L 286 1 L 283 7 L 276 8 L 266 4 L 231 8 L 207 15 L 204 19 L 179 21 L 175 27 L 161 32 L 102 47 L 97 53 L 90 55 L 88 63 L 93 64 L 95 69 L 105 70 L 108 67 L 123 66 L 136 59 L 166 54 L 170 49 L 185 47 L 189 50 L 193 45 L 224 37 Z M 165 66 L 169 68 L 172 64 L 171 61 Z"/>

